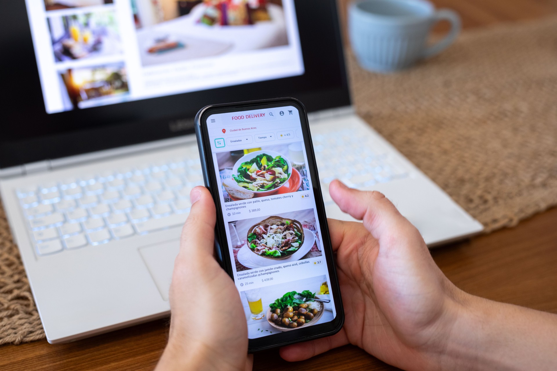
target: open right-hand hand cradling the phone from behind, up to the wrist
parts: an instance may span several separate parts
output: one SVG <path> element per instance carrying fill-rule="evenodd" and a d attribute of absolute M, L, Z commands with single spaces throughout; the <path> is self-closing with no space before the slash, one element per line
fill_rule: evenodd
<path fill-rule="evenodd" d="M 399 368 L 439 367 L 439 354 L 467 294 L 434 263 L 422 236 L 379 192 L 330 185 L 359 222 L 329 220 L 345 324 L 336 335 L 281 349 L 302 360 L 348 343 Z M 435 365 L 433 367 L 433 365 Z"/>

